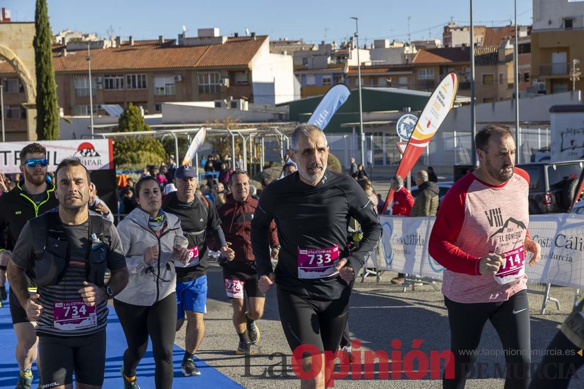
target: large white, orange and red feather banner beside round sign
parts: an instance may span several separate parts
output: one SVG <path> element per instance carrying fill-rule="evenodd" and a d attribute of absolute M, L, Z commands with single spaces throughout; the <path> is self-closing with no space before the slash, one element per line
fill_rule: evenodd
<path fill-rule="evenodd" d="M 402 156 L 398 170 L 395 173 L 396 176 L 401 176 L 405 179 L 412 170 L 413 165 L 416 164 L 423 150 L 432 140 L 432 136 L 436 134 L 440 124 L 442 124 L 444 118 L 450 112 L 457 90 L 458 78 L 456 73 L 450 73 L 444 77 L 440 85 L 434 90 L 434 93 L 430 96 L 430 100 L 428 100 L 426 107 L 424 107 L 422 114 L 418 118 L 412 136 L 409 138 L 408 146 L 406 146 L 404 156 Z M 393 198 L 394 191 L 390 189 L 387 193 L 381 215 L 385 213 L 387 206 L 391 204 Z"/>

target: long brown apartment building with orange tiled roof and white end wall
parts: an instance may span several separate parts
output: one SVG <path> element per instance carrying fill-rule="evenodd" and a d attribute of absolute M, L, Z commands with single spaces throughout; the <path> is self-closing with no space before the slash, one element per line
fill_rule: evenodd
<path fill-rule="evenodd" d="M 232 97 L 276 104 L 300 97 L 294 93 L 292 58 L 270 53 L 268 36 L 227 37 L 218 29 L 199 29 L 197 37 L 180 34 L 176 40 L 160 36 L 145 41 L 133 37 L 92 41 L 91 89 L 87 45 L 70 41 L 53 46 L 58 104 L 64 115 L 89 115 L 89 93 L 94 115 L 105 114 L 102 104 L 134 103 L 146 113 L 160 113 L 165 102 Z M 0 61 L 0 79 L 5 86 L 6 122 L 12 131 L 26 134 L 22 83 L 6 61 Z"/>

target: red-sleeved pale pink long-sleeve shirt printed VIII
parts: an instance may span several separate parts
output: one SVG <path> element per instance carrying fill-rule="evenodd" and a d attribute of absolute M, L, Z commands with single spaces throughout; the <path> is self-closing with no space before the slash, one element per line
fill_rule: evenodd
<path fill-rule="evenodd" d="M 429 241 L 430 256 L 446 268 L 444 296 L 458 303 L 499 302 L 527 288 L 526 275 L 501 284 L 492 274 L 481 275 L 479 262 L 488 253 L 497 253 L 509 255 L 509 265 L 514 265 L 519 252 L 522 258 L 525 255 L 520 267 L 526 266 L 523 243 L 529 237 L 528 194 L 529 175 L 518 167 L 502 185 L 487 184 L 469 173 L 450 188 Z"/>

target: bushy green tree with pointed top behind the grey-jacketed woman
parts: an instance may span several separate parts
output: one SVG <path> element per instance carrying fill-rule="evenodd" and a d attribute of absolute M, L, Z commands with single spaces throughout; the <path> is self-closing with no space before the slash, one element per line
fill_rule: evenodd
<path fill-rule="evenodd" d="M 151 131 L 138 107 L 128 104 L 120 115 L 116 132 Z M 123 136 L 113 145 L 116 166 L 160 164 L 168 157 L 162 143 L 152 135 Z"/>

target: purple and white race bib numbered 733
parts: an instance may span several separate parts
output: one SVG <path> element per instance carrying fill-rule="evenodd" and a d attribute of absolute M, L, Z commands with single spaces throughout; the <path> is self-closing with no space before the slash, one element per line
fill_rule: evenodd
<path fill-rule="evenodd" d="M 335 274 L 339 245 L 331 248 L 298 248 L 298 278 L 325 278 Z"/>

